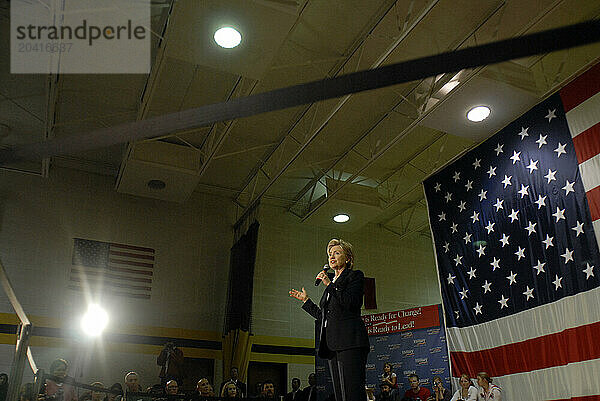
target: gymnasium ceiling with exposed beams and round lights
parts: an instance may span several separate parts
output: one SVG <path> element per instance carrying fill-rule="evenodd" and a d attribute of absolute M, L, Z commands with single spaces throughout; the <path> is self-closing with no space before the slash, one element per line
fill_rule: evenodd
<path fill-rule="evenodd" d="M 149 75 L 11 75 L 0 0 L 0 146 L 80 135 L 600 16 L 600 0 L 152 0 Z M 216 46 L 224 24 L 240 46 Z M 304 224 L 334 214 L 428 235 L 421 181 L 598 59 L 598 44 L 444 74 L 160 138 L 9 166 L 114 177 L 115 191 L 275 204 Z M 466 120 L 486 104 L 490 118 Z M 148 186 L 163 181 L 163 189 Z M 182 206 L 184 207 L 184 206 Z"/>

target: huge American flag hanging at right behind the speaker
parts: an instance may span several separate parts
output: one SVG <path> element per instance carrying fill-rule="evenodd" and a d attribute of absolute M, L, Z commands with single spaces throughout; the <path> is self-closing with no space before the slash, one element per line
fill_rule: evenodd
<path fill-rule="evenodd" d="M 600 65 L 424 183 L 452 376 L 600 400 Z"/>

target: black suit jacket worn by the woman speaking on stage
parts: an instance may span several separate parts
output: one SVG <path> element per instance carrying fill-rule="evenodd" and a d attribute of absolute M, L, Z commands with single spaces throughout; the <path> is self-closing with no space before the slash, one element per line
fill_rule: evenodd
<path fill-rule="evenodd" d="M 332 351 L 369 348 L 367 329 L 360 317 L 364 282 L 363 272 L 345 269 L 325 288 L 319 306 L 310 298 L 302 305 L 319 325 L 319 357 L 331 359 Z"/>

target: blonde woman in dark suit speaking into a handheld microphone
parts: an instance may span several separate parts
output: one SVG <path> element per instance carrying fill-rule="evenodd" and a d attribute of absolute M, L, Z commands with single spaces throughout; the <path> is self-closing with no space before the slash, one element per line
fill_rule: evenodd
<path fill-rule="evenodd" d="M 360 308 L 363 302 L 364 274 L 353 270 L 352 245 L 341 239 L 327 244 L 330 278 L 326 269 L 317 274 L 325 291 L 317 306 L 302 291 L 290 290 L 290 296 L 303 302 L 302 309 L 319 324 L 320 358 L 329 361 L 336 401 L 365 401 L 365 364 L 369 353 L 369 338 Z"/>

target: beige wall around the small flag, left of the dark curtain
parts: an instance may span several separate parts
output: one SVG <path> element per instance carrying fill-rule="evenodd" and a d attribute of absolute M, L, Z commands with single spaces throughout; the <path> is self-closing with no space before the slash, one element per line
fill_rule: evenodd
<path fill-rule="evenodd" d="M 52 169 L 49 178 L 0 171 L 0 259 L 27 314 L 75 332 L 86 302 L 67 289 L 73 238 L 151 247 L 151 299 L 104 299 L 107 330 L 140 325 L 220 332 L 233 212 L 230 201 L 208 195 L 176 204 L 119 194 L 112 178 L 74 170 Z M 12 312 L 3 295 L 0 312 Z M 68 348 L 34 348 L 38 365 L 47 368 L 59 356 L 75 364 L 78 346 Z M 0 347 L 0 372 L 8 371 L 12 352 Z M 137 370 L 144 385 L 156 382 L 155 355 L 108 353 L 103 361 L 102 354 L 92 355 L 82 380 L 113 383 Z"/>

